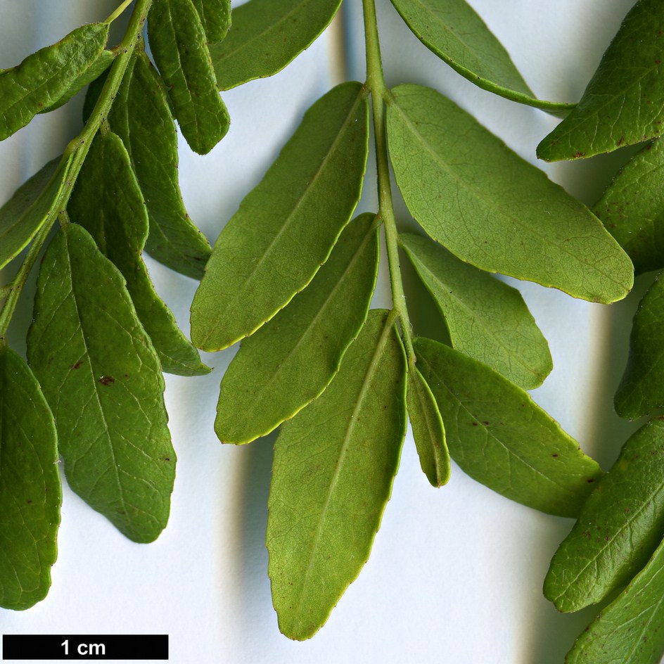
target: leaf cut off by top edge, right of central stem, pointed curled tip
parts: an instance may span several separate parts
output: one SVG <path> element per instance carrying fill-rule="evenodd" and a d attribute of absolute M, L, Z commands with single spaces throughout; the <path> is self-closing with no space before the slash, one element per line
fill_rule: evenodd
<path fill-rule="evenodd" d="M 539 105 L 509 53 L 465 0 L 392 0 L 392 4 L 422 44 L 471 83 Z"/>

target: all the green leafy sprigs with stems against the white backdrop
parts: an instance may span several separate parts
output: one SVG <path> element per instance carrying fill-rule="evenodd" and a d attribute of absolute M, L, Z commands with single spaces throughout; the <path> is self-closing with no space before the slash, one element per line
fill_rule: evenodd
<path fill-rule="evenodd" d="M 364 565 L 408 416 L 430 484 L 447 482 L 449 445 L 456 470 L 535 509 L 580 515 L 547 580 L 559 608 L 627 585 L 568 661 L 601 664 L 608 652 L 654 662 L 664 649 L 650 627 L 661 620 L 662 533 L 658 510 L 646 508 L 660 500 L 660 422 L 630 439 L 603 477 L 524 391 L 551 369 L 547 343 L 516 290 L 488 273 L 597 302 L 623 298 L 630 258 L 638 272 L 663 267 L 659 143 L 636 155 L 595 206 L 607 232 L 440 92 L 408 83 L 389 90 L 373 0 L 362 0 L 366 81 L 340 84 L 309 108 L 211 253 L 181 198 L 175 122 L 194 151 L 211 151 L 229 129 L 219 89 L 281 70 L 341 1 L 249 0 L 231 12 L 229 0 L 136 0 L 124 37 L 108 44 L 109 25 L 129 4 L 0 70 L 0 139 L 89 84 L 79 135 L 0 208 L 0 267 L 17 267 L 0 289 L 0 604 L 27 608 L 48 591 L 58 454 L 72 489 L 128 537 L 154 540 L 167 523 L 175 454 L 162 371 L 208 369 L 155 292 L 145 250 L 202 278 L 191 314 L 196 345 L 219 350 L 243 340 L 221 382 L 219 438 L 249 442 L 281 427 L 267 545 L 285 634 L 312 636 Z M 393 4 L 416 37 L 480 87 L 549 113 L 572 108 L 535 99 L 463 0 Z M 589 156 L 658 135 L 663 18 L 656 0 L 637 2 L 540 156 Z M 369 108 L 378 214 L 351 221 L 372 136 Z M 390 161 L 407 208 L 442 246 L 399 236 Z M 390 312 L 368 311 L 381 225 Z M 411 331 L 399 245 L 453 347 L 414 337 L 421 333 Z M 29 369 L 6 346 L 6 332 L 44 249 Z M 659 295 L 656 282 L 634 321 L 616 397 L 625 416 L 664 405 Z M 602 521 L 601 541 L 586 537 L 590 521 Z M 583 561 L 592 569 L 580 569 Z M 634 627 L 639 615 L 648 624 Z"/>

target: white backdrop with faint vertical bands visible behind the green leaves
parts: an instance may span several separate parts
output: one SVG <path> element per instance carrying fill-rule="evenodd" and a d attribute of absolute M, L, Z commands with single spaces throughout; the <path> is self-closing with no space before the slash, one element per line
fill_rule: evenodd
<path fill-rule="evenodd" d="M 81 23 L 103 20 L 115 4 L 0 0 L 0 67 L 18 63 Z M 535 146 L 556 120 L 476 89 L 419 44 L 388 0 L 377 4 L 388 84 L 418 82 L 439 89 L 535 162 Z M 471 4 L 536 94 L 577 101 L 632 0 Z M 210 241 L 260 180 L 302 113 L 338 82 L 344 50 L 350 77 L 364 79 L 361 2 L 344 5 L 343 25 L 338 22 L 336 31 L 286 70 L 224 94 L 231 131 L 210 155 L 194 155 L 182 143 L 185 203 Z M 81 103 L 77 98 L 38 116 L 0 144 L 1 200 L 79 132 Z M 592 204 L 623 158 L 540 167 Z M 366 210 L 376 207 L 373 155 L 369 161 L 361 204 Z M 405 209 L 398 210 L 407 222 Z M 196 283 L 149 259 L 148 267 L 188 330 Z M 380 305 L 389 302 L 385 286 L 383 278 Z M 554 358 L 553 373 L 533 397 L 608 468 L 634 429 L 618 420 L 611 403 L 636 298 L 601 307 L 530 283 L 521 289 Z M 19 351 L 31 297 L 28 289 L 11 328 L 10 343 Z M 420 471 L 410 435 L 359 579 L 314 639 L 300 644 L 282 637 L 264 549 L 272 441 L 224 447 L 212 429 L 219 380 L 232 355 L 232 350 L 204 354 L 204 362 L 215 367 L 210 376 L 167 377 L 179 460 L 170 524 L 158 541 L 125 540 L 65 487 L 51 592 L 29 611 L 0 610 L 0 632 L 170 634 L 170 660 L 182 664 L 563 662 L 593 615 L 588 610 L 560 615 L 542 597 L 549 559 L 572 522 L 509 502 L 456 466 L 449 485 L 434 490 Z"/>

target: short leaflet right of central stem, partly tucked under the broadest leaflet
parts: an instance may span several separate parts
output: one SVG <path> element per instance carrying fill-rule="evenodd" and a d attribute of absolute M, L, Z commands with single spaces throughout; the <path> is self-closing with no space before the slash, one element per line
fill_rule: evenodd
<path fill-rule="evenodd" d="M 403 234 L 400 241 L 445 317 L 454 348 L 525 390 L 541 385 L 553 362 L 521 293 L 427 238 Z"/>

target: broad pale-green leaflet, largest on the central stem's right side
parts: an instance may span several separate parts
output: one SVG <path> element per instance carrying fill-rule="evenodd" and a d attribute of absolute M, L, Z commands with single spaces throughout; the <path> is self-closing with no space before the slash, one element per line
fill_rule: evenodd
<path fill-rule="evenodd" d="M 632 263 L 599 220 L 438 92 L 392 90 L 388 138 L 408 209 L 461 260 L 596 302 L 632 288 Z"/>

